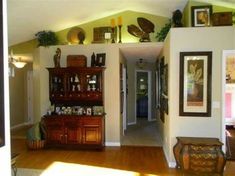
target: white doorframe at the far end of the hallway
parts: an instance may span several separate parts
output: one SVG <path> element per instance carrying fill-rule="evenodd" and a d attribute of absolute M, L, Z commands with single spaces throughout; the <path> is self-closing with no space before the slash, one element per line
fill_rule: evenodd
<path fill-rule="evenodd" d="M 151 70 L 135 70 L 135 123 L 137 122 L 137 109 L 136 109 L 136 86 L 137 86 L 137 72 L 148 73 L 148 121 L 152 121 L 152 71 Z"/>

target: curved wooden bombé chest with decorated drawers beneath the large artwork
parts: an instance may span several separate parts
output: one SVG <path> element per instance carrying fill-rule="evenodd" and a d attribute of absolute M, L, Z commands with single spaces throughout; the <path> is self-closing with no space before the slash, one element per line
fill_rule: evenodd
<path fill-rule="evenodd" d="M 189 173 L 223 175 L 225 155 L 217 138 L 176 137 L 176 168 Z"/>

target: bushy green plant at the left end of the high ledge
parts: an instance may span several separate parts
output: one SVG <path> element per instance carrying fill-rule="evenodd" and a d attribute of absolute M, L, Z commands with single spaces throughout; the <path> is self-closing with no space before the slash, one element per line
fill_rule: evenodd
<path fill-rule="evenodd" d="M 58 38 L 55 32 L 52 31 L 39 31 L 35 34 L 38 40 L 38 46 L 50 46 L 58 43 Z"/>

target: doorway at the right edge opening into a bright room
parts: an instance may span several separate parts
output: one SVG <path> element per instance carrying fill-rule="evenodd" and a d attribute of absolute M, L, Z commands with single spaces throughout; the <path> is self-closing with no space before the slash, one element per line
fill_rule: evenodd
<path fill-rule="evenodd" d="M 222 142 L 228 160 L 235 160 L 235 50 L 223 51 Z"/>

